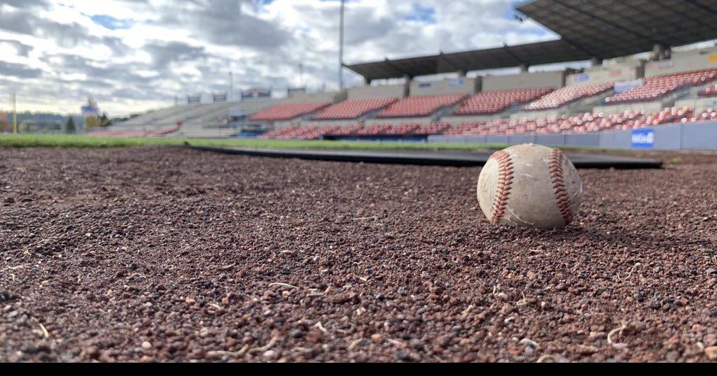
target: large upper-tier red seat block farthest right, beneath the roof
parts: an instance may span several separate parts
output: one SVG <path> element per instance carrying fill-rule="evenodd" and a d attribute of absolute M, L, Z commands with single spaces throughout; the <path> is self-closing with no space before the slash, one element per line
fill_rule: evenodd
<path fill-rule="evenodd" d="M 615 104 L 660 100 L 660 98 L 675 92 L 675 90 L 683 87 L 704 85 L 715 79 L 717 79 L 717 70 L 713 69 L 647 77 L 644 85 L 607 97 L 605 102 Z"/>

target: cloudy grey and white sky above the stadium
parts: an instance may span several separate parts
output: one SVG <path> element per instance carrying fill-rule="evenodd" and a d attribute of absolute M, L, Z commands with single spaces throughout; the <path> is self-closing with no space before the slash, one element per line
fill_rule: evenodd
<path fill-rule="evenodd" d="M 347 63 L 556 39 L 515 0 L 349 0 Z M 0 0 L 0 109 L 111 116 L 174 96 L 300 85 L 336 89 L 338 0 Z M 346 72 L 347 85 L 360 77 Z"/>

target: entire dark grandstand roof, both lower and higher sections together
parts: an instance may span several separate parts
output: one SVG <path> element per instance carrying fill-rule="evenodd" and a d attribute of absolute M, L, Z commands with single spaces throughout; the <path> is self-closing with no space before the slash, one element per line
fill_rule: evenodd
<path fill-rule="evenodd" d="M 534 0 L 516 8 L 561 39 L 469 52 L 347 64 L 368 80 L 574 62 L 717 38 L 717 0 Z"/>

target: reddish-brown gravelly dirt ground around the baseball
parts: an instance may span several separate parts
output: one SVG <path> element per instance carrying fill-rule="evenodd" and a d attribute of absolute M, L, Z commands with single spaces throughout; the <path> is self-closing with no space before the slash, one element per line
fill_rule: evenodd
<path fill-rule="evenodd" d="M 0 149 L 0 362 L 717 359 L 717 156 L 664 158 L 543 233 L 479 168 Z"/>

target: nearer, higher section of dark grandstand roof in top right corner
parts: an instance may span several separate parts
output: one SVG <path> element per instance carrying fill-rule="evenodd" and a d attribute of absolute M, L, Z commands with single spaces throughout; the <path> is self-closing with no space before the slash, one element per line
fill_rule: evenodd
<path fill-rule="evenodd" d="M 534 0 L 516 9 L 604 59 L 717 38 L 717 0 Z"/>

